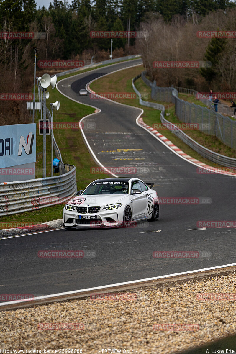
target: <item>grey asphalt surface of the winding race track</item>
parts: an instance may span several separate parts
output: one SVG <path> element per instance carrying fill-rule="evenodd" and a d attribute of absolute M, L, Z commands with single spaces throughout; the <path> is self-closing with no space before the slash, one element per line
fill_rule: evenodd
<path fill-rule="evenodd" d="M 141 62 L 137 59 L 76 75 L 59 82 L 58 89 L 101 110 L 83 122 L 86 138 L 104 166 L 136 168 L 137 173 L 128 176 L 154 182 L 159 197 L 211 198 L 211 204 L 161 205 L 159 221 L 132 228 L 61 229 L 1 239 L 1 294 L 48 295 L 235 262 L 235 228 L 199 229 L 196 224 L 236 219 L 235 177 L 198 174 L 195 165 L 136 124 L 139 109 L 78 95 L 94 78 Z M 96 128 L 90 129 L 94 124 Z M 95 251 L 96 257 L 39 258 L 40 250 L 87 250 Z M 154 251 L 211 253 L 176 259 L 154 258 Z"/>

